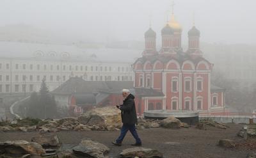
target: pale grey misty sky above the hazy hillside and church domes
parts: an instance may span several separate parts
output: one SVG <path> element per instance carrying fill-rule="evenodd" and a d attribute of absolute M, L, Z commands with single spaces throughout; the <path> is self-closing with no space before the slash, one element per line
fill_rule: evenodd
<path fill-rule="evenodd" d="M 95 42 L 143 41 L 152 15 L 152 29 L 161 29 L 171 13 L 170 0 L 0 0 L 0 26 L 28 24 L 70 38 Z M 193 24 L 210 43 L 256 43 L 255 0 L 176 0 L 175 17 L 183 42 Z"/>

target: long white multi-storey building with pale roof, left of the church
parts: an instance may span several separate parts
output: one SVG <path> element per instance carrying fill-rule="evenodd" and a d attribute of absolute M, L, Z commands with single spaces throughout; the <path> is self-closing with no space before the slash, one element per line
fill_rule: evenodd
<path fill-rule="evenodd" d="M 133 59 L 124 54 L 136 52 L 0 42 L 0 93 L 38 91 L 44 78 L 50 91 L 70 76 L 83 77 L 86 81 L 134 81 Z"/>

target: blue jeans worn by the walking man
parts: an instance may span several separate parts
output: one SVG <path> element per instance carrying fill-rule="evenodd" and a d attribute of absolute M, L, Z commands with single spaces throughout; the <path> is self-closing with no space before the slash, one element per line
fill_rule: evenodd
<path fill-rule="evenodd" d="M 133 138 L 136 139 L 136 143 L 141 143 L 141 139 L 139 138 L 139 135 L 135 129 L 135 124 L 123 124 L 122 129 L 121 129 L 121 133 L 120 136 L 116 139 L 116 143 L 122 143 L 125 134 L 128 132 L 128 130 L 130 130 Z"/>

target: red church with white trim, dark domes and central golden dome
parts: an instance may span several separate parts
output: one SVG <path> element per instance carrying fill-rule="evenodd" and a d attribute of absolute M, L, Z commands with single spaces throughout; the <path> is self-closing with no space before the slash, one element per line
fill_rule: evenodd
<path fill-rule="evenodd" d="M 145 32 L 145 50 L 133 64 L 138 115 L 154 109 L 199 111 L 200 115 L 223 115 L 225 89 L 211 85 L 212 63 L 200 51 L 200 31 L 188 31 L 188 50 L 182 51 L 182 27 L 172 13 L 161 30 L 162 46 L 156 49 L 156 32 Z M 141 93 L 140 93 L 141 94 Z"/>

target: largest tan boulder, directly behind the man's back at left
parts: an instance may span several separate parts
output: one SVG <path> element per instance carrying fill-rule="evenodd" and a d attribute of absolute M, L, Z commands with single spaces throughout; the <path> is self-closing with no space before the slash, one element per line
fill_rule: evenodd
<path fill-rule="evenodd" d="M 122 126 L 120 113 L 121 111 L 114 107 L 99 107 L 84 113 L 77 120 L 84 125 L 97 125 L 99 129 L 108 130 L 108 127 L 114 129 L 112 127 L 120 128 Z"/>

